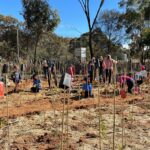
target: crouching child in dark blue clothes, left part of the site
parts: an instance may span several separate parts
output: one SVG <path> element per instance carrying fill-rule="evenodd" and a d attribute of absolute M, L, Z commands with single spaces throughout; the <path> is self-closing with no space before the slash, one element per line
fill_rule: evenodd
<path fill-rule="evenodd" d="M 41 90 L 41 81 L 38 79 L 38 76 L 35 74 L 33 75 L 33 87 L 31 88 L 31 91 L 33 93 L 38 93 Z"/>

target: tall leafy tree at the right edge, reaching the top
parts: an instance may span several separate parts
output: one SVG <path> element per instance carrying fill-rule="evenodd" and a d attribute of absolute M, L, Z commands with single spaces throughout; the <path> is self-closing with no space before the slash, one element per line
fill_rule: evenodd
<path fill-rule="evenodd" d="M 149 44 L 148 33 L 145 32 L 145 19 L 149 18 L 149 0 L 121 0 L 120 7 L 125 8 L 125 12 L 120 17 L 120 22 L 124 25 L 126 36 L 130 41 L 130 55 L 141 59 L 144 62 L 144 46 Z M 148 17 L 146 17 L 148 16 Z M 148 55 L 147 55 L 148 56 Z"/>

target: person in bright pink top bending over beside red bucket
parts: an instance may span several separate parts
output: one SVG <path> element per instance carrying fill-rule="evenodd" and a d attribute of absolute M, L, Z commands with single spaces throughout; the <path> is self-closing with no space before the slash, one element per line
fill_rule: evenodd
<path fill-rule="evenodd" d="M 121 88 L 123 88 L 124 85 L 126 84 L 128 87 L 128 93 L 132 94 L 132 89 L 134 87 L 135 82 L 131 74 L 129 73 L 128 75 L 121 75 L 119 77 L 119 80 L 120 80 L 119 82 L 120 82 Z"/>

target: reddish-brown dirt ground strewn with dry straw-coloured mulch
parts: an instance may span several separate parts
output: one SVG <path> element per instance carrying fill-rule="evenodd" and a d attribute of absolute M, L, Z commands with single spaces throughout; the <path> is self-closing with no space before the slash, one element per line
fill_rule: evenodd
<path fill-rule="evenodd" d="M 115 149 L 150 149 L 149 81 L 140 94 L 124 99 L 114 98 L 113 85 L 95 87 L 94 98 L 87 99 L 77 84 L 71 94 L 48 89 L 44 80 L 38 94 L 31 86 L 31 80 L 22 81 L 19 93 L 11 93 L 11 84 L 0 99 L 0 150 L 112 149 L 114 101 Z"/>

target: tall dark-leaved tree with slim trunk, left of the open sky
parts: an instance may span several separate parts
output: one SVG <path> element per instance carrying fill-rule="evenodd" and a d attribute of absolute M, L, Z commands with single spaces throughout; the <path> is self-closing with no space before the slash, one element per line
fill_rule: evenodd
<path fill-rule="evenodd" d="M 37 46 L 44 32 L 53 31 L 60 19 L 57 11 L 53 11 L 46 0 L 22 0 L 23 17 L 27 29 L 35 39 L 34 63 L 36 63 Z"/>

